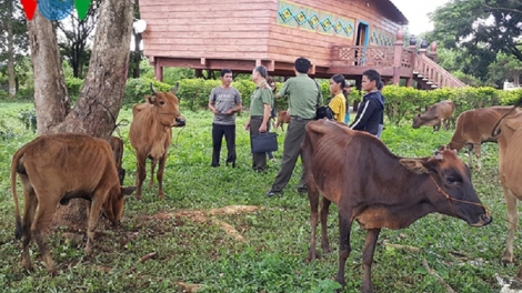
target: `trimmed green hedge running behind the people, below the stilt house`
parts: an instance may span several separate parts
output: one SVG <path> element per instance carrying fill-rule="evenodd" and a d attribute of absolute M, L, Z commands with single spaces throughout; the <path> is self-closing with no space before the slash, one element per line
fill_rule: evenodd
<path fill-rule="evenodd" d="M 174 84 L 159 82 L 151 78 L 129 79 L 126 85 L 124 104 L 134 104 L 143 101 L 144 95 L 151 94 L 150 83 L 159 91 L 169 91 Z M 72 101 L 78 99 L 83 80 L 76 78 L 66 79 L 68 93 Z M 181 100 L 181 107 L 193 111 L 207 109 L 209 95 L 213 88 L 221 84 L 219 80 L 203 79 L 183 79 L 179 81 L 178 98 Z M 324 101 L 330 97 L 329 80 L 319 80 Z M 249 108 L 250 97 L 252 95 L 255 84 L 250 80 L 237 80 L 232 87 L 238 89 L 243 100 L 243 107 Z M 281 89 L 282 83 L 277 83 Z M 31 95 L 32 89 L 23 90 L 17 95 Z M 384 113 L 390 123 L 399 124 L 404 121 L 411 121 L 416 113 L 421 113 L 426 105 L 443 101 L 452 100 L 455 103 L 456 118 L 460 113 L 483 107 L 513 104 L 522 97 L 522 90 L 503 91 L 493 88 L 460 88 L 460 89 L 436 89 L 433 91 L 421 91 L 413 88 L 387 85 L 383 89 L 387 99 Z M 355 100 L 361 100 L 361 92 L 353 89 L 350 94 L 350 104 L 353 105 Z M 31 97 L 32 99 L 32 97 Z M 277 99 L 275 107 L 278 110 L 288 108 L 287 99 Z"/>

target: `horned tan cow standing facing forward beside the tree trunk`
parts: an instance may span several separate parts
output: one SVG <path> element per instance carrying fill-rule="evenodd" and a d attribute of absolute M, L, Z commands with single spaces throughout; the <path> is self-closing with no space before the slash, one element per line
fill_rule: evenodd
<path fill-rule="evenodd" d="M 184 127 L 185 120 L 179 110 L 179 100 L 175 97 L 178 84 L 170 92 L 158 92 L 151 84 L 154 93 L 147 97 L 147 102 L 132 108 L 133 120 L 130 127 L 129 139 L 135 150 L 137 158 L 137 192 L 135 198 L 141 200 L 141 185 L 145 179 L 147 158 L 151 159 L 150 186 L 154 184 L 154 169 L 158 166 L 158 196 L 164 198 L 163 172 L 167 162 L 167 152 L 172 141 L 172 128 Z"/>

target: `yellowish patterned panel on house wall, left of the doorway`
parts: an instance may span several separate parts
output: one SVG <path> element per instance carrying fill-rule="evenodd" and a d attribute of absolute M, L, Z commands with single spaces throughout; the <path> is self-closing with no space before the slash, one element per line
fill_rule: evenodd
<path fill-rule="evenodd" d="M 280 0 L 278 6 L 278 24 L 353 39 L 355 20 Z"/>

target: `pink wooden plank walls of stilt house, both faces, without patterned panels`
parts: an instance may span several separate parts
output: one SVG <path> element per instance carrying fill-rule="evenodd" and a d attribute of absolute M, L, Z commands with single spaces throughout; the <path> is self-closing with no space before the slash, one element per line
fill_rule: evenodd
<path fill-rule="evenodd" d="M 379 9 L 382 0 L 288 0 L 355 19 L 354 38 L 277 24 L 278 0 L 140 0 L 144 54 L 187 59 L 273 60 L 307 57 L 329 67 L 331 47 L 354 44 L 360 20 L 392 34 L 400 28 Z M 365 3 L 369 3 L 367 6 Z"/>

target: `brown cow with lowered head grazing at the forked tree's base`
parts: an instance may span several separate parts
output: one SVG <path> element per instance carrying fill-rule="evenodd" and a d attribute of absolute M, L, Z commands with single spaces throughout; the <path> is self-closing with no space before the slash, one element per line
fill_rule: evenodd
<path fill-rule="evenodd" d="M 23 188 L 23 224 L 18 204 L 17 173 Z M 131 194 L 135 188 L 121 188 L 119 184 L 111 148 L 106 140 L 59 133 L 38 137 L 14 153 L 11 190 L 16 205 L 16 236 L 23 236 L 23 267 L 32 266 L 29 243 L 34 238 L 47 270 L 56 273 L 46 233 L 58 203 L 67 204 L 74 198 L 91 202 L 86 245 L 86 252 L 91 254 L 100 210 L 117 224 L 123 212 L 123 195 Z"/>

